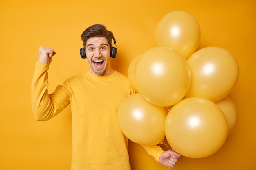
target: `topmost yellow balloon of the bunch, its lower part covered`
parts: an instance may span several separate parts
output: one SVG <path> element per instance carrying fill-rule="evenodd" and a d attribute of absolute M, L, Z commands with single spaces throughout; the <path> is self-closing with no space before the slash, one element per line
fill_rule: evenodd
<path fill-rule="evenodd" d="M 157 46 L 173 48 L 185 59 L 198 48 L 200 36 L 197 20 L 185 11 L 168 13 L 162 17 L 155 30 Z"/>

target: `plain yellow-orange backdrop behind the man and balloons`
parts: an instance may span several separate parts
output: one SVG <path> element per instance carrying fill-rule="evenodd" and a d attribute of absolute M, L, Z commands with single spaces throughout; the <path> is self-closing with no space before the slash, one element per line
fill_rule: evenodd
<path fill-rule="evenodd" d="M 181 157 L 173 169 L 255 170 L 255 0 L 0 0 L 0 169 L 70 169 L 70 108 L 47 122 L 37 122 L 32 115 L 30 84 L 39 46 L 56 51 L 49 70 L 52 92 L 66 78 L 89 68 L 79 55 L 80 35 L 92 24 L 105 24 L 117 40 L 112 66 L 127 75 L 132 59 L 156 46 L 159 20 L 177 10 L 198 20 L 198 49 L 229 50 L 238 61 L 240 75 L 228 95 L 238 110 L 236 129 L 213 155 Z M 129 152 L 132 170 L 167 169 L 138 144 L 130 142 Z"/>

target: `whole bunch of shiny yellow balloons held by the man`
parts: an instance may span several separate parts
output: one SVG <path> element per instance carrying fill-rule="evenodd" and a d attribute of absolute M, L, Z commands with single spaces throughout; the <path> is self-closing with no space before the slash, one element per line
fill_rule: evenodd
<path fill-rule="evenodd" d="M 234 130 L 237 110 L 227 95 L 238 81 L 238 63 L 220 47 L 197 50 L 200 35 L 191 14 L 173 11 L 157 25 L 157 46 L 130 63 L 128 79 L 137 94 L 121 103 L 117 120 L 133 142 L 155 145 L 166 137 L 181 155 L 201 158 Z"/>

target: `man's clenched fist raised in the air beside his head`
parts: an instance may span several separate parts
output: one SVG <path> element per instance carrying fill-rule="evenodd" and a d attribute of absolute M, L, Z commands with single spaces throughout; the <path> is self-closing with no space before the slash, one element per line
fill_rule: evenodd
<path fill-rule="evenodd" d="M 39 47 L 38 61 L 50 64 L 52 57 L 55 55 L 55 51 L 51 47 Z"/>

